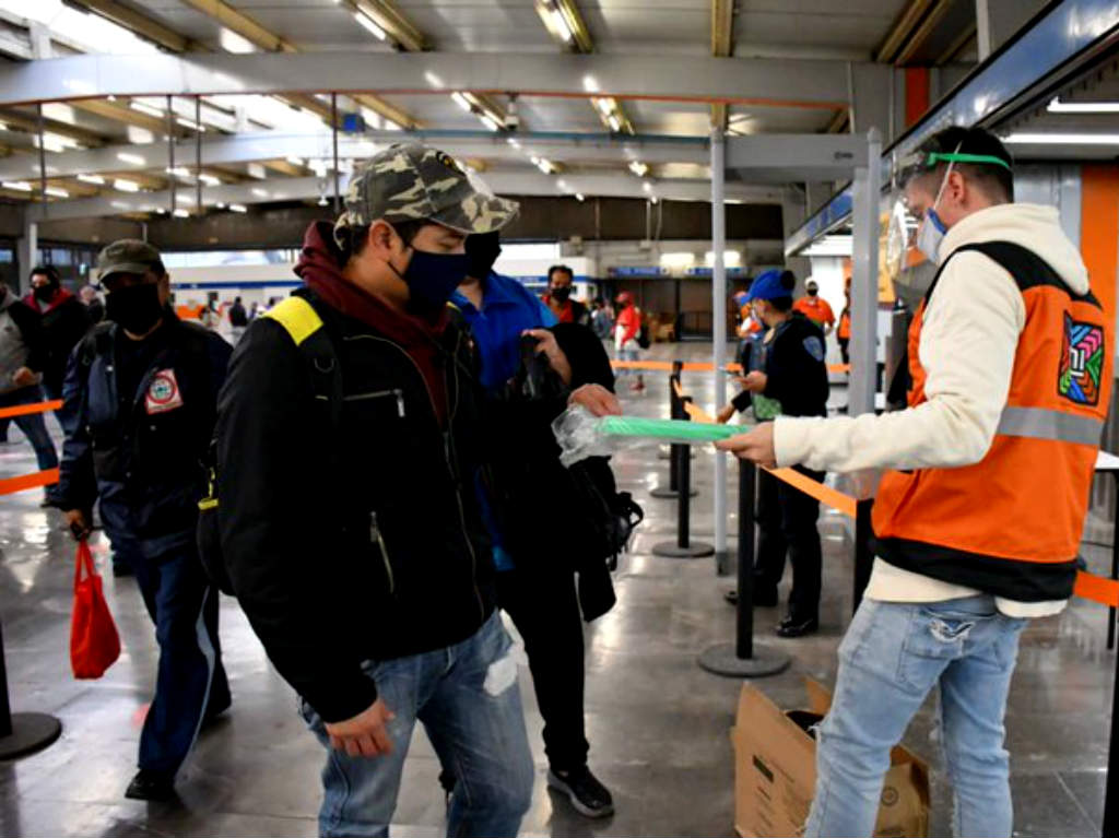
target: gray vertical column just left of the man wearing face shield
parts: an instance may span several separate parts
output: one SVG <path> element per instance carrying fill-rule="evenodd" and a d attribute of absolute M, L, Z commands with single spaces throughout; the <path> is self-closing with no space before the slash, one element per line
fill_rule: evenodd
<path fill-rule="evenodd" d="M 866 168 L 855 169 L 852 187 L 855 222 L 850 283 L 849 415 L 874 412 L 878 371 L 878 205 L 881 203 L 882 135 L 871 130 Z"/>

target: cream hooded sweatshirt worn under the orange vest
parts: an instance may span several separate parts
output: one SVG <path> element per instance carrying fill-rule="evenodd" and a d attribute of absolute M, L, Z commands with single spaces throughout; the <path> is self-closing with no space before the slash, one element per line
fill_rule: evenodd
<path fill-rule="evenodd" d="M 1088 270 L 1053 207 L 1002 204 L 958 222 L 940 246 L 943 263 L 978 242 L 1013 242 L 1041 256 L 1070 291 L 1088 291 Z M 925 309 L 919 355 L 928 374 L 918 407 L 837 418 L 786 418 L 774 425 L 779 465 L 819 471 L 935 469 L 986 456 L 1010 387 L 1018 337 L 1026 323 L 1022 292 L 989 257 L 952 257 Z M 979 593 L 875 559 L 866 596 L 882 602 L 940 602 Z M 999 597 L 1009 616 L 1047 616 L 1065 601 L 1023 603 Z"/>

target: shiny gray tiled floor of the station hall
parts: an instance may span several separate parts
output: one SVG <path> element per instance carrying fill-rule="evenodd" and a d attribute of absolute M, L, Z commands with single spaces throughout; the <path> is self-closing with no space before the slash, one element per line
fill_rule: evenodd
<path fill-rule="evenodd" d="M 658 347 L 653 355 L 702 358 L 704 345 Z M 627 396 L 628 409 L 666 413 L 664 374 L 649 392 Z M 712 376 L 690 374 L 687 388 L 712 402 Z M 841 394 L 837 394 L 841 402 Z M 13 432 L 13 439 L 19 439 Z M 713 537 L 714 455 L 698 451 L 694 474 L 693 536 Z M 0 474 L 31 470 L 26 444 L 0 448 Z M 542 721 L 527 669 L 521 667 L 529 734 L 537 765 L 526 834 L 554 836 L 715 836 L 733 832 L 733 762 L 727 731 L 739 684 L 695 665 L 707 646 L 731 639 L 733 611 L 722 599 L 730 586 L 711 559 L 671 561 L 649 548 L 675 533 L 673 501 L 648 497 L 667 463 L 650 449 L 615 458 L 622 484 L 645 505 L 647 522 L 618 575 L 619 605 L 587 628 L 587 729 L 592 764 L 613 789 L 618 813 L 590 822 L 545 788 Z M 730 508 L 734 506 L 733 468 Z M 237 610 L 223 603 L 225 660 L 234 691 L 228 718 L 208 731 L 179 784 L 180 800 L 144 804 L 121 793 L 134 765 L 138 713 L 149 698 L 156 647 L 133 582 L 106 577 L 124 642 L 121 660 L 100 681 L 75 681 L 67 661 L 73 545 L 36 492 L 0 498 L 0 615 L 12 704 L 58 715 L 62 741 L 19 762 L 0 763 L 2 836 L 312 836 L 319 800 L 321 751 L 294 713 L 290 689 L 270 668 Z M 728 524 L 732 534 L 735 521 Z M 775 700 L 801 700 L 809 675 L 830 682 L 835 648 L 850 611 L 849 543 L 843 520 L 824 514 L 827 554 L 824 631 L 801 641 L 770 642 L 794 656 L 784 675 L 763 681 Z M 1093 540 L 1110 527 L 1093 525 Z M 732 540 L 733 548 L 733 540 Z M 1102 569 L 1104 550 L 1089 547 Z M 106 545 L 96 544 L 107 562 Z M 771 637 L 775 610 L 756 615 L 760 639 Z M 1076 603 L 1060 619 L 1038 621 L 1026 633 L 1007 717 L 1021 836 L 1088 836 L 1102 818 L 1107 731 L 1113 658 L 1103 648 L 1106 613 Z M 906 743 L 937 768 L 933 835 L 949 834 L 950 790 L 939 770 L 930 707 L 914 721 Z M 405 770 L 394 830 L 436 836 L 443 820 L 438 765 L 420 733 Z"/>

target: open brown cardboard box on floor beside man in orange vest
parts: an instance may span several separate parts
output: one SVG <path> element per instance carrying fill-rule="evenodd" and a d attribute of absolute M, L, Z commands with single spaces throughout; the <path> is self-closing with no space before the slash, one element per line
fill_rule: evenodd
<path fill-rule="evenodd" d="M 734 827 L 743 838 L 803 835 L 816 789 L 816 740 L 831 695 L 805 679 L 808 709 L 781 710 L 760 689 L 742 687 L 734 743 Z M 875 826 L 876 838 L 927 838 L 929 766 L 904 747 L 891 754 Z"/>

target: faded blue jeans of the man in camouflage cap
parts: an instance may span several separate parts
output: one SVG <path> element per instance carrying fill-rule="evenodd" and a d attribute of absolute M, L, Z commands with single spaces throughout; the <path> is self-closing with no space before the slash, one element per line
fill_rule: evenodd
<path fill-rule="evenodd" d="M 393 752 L 349 756 L 330 747 L 318 714 L 300 713 L 327 748 L 319 810 L 321 836 L 387 836 L 412 731 L 423 723 L 440 764 L 455 779 L 446 835 L 517 835 L 532 803 L 534 768 L 517 687 L 513 641 L 497 612 L 457 646 L 364 667 L 396 717 Z M 434 783 L 433 794 L 439 793 Z"/>

